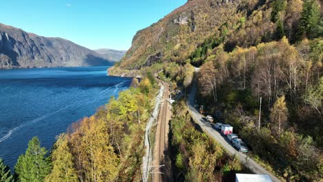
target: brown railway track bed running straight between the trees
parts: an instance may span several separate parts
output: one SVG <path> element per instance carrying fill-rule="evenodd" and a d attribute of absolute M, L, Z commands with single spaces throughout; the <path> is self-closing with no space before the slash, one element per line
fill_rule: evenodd
<path fill-rule="evenodd" d="M 164 94 L 161 99 L 161 108 L 157 119 L 157 130 L 155 134 L 155 144 L 153 150 L 153 182 L 167 181 L 167 163 L 165 161 L 165 151 L 168 146 L 168 121 L 170 120 L 170 105 L 168 104 L 169 89 L 168 84 L 164 81 L 159 81 L 164 85 Z M 166 166 L 164 166 L 166 165 Z"/>

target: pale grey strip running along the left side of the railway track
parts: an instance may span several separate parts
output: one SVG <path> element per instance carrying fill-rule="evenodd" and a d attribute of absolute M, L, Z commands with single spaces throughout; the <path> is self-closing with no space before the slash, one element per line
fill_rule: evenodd
<path fill-rule="evenodd" d="M 152 155 L 151 155 L 151 145 L 150 145 L 150 139 L 149 139 L 149 134 L 150 134 L 150 128 L 153 125 L 153 121 L 157 119 L 157 114 L 159 113 L 160 110 L 160 105 L 161 105 L 161 99 L 163 97 L 164 93 L 164 85 L 161 85 L 161 88 L 159 89 L 159 94 L 156 97 L 156 102 L 155 102 L 155 108 L 153 110 L 153 114 L 151 115 L 147 125 L 146 125 L 146 130 L 145 130 L 145 148 L 146 148 L 146 154 L 143 159 L 143 175 L 142 175 L 142 181 L 147 182 L 149 178 L 149 168 L 150 168 L 150 163 L 152 161 Z"/>

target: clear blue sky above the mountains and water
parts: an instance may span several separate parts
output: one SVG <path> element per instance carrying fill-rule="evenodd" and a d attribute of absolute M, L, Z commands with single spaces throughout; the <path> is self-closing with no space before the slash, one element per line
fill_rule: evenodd
<path fill-rule="evenodd" d="M 9 0 L 0 23 L 86 48 L 128 50 L 137 30 L 157 22 L 187 0 Z"/>

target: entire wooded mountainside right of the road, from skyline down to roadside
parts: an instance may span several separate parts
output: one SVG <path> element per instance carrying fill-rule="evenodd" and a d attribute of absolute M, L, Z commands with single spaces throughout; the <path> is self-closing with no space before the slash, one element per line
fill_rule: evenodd
<path fill-rule="evenodd" d="M 286 181 L 320 181 L 322 10 L 316 0 L 188 1 L 140 30 L 109 71 L 158 72 L 185 93 L 195 78 L 197 103 L 233 125 L 249 156 Z"/>

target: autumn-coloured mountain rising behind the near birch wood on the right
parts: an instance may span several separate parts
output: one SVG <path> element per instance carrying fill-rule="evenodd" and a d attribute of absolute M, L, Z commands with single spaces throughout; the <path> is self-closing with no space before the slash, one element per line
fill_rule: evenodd
<path fill-rule="evenodd" d="M 282 38 L 280 31 L 289 41 L 295 42 L 303 1 L 281 1 L 281 6 L 277 1 L 277 8 L 273 7 L 273 2 L 189 0 L 157 23 L 139 30 L 131 48 L 116 67 L 139 70 L 165 61 L 200 64 L 201 60 L 194 58 L 211 53 L 218 45 L 224 44 L 224 49 L 231 52 L 236 46 L 248 48 L 261 42 L 275 41 Z M 282 7 L 286 10 L 281 22 L 277 21 L 277 16 Z"/>

